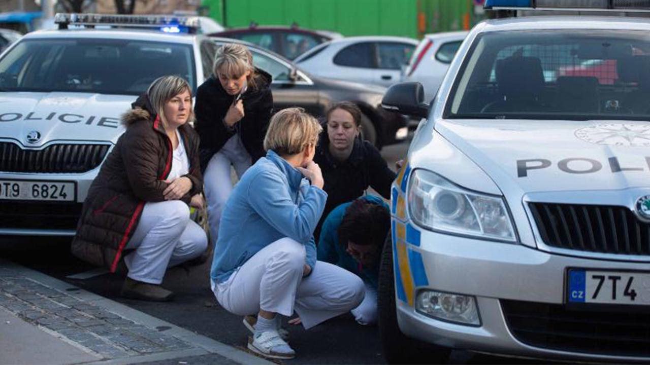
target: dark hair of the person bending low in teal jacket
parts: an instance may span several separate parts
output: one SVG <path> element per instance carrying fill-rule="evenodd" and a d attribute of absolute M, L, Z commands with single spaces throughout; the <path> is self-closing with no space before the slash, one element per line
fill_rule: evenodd
<path fill-rule="evenodd" d="M 391 227 L 391 214 L 386 207 L 359 198 L 345 209 L 339 225 L 339 244 L 348 246 L 348 241 L 357 245 L 382 247 Z"/>

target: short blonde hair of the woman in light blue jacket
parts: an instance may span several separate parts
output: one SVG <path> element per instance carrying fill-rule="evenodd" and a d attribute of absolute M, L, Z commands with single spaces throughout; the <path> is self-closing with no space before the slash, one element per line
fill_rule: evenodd
<path fill-rule="evenodd" d="M 280 156 L 296 155 L 309 144 L 316 145 L 320 123 L 303 108 L 286 108 L 277 112 L 268 125 L 264 149 Z"/>

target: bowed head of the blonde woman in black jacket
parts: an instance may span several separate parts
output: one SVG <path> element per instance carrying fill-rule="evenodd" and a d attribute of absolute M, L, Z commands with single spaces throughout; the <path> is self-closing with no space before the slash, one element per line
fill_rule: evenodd
<path fill-rule="evenodd" d="M 239 94 L 249 84 L 255 86 L 253 55 L 241 44 L 224 44 L 216 51 L 213 73 L 229 95 Z"/>

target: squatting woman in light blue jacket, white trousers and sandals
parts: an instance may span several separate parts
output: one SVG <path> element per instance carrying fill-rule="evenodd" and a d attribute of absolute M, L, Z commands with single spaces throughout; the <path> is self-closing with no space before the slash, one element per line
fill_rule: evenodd
<path fill-rule="evenodd" d="M 327 199 L 313 162 L 321 130 L 301 108 L 273 116 L 266 157 L 242 175 L 219 226 L 214 295 L 233 314 L 258 314 L 254 328 L 244 324 L 253 331 L 248 348 L 265 357 L 295 356 L 277 314 L 295 310 L 308 329 L 357 307 L 365 292 L 353 273 L 316 260 L 313 232 Z"/>

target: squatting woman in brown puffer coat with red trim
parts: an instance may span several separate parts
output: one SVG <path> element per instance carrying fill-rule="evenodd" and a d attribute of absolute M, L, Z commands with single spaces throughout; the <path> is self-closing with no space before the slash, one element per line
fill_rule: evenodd
<path fill-rule="evenodd" d="M 72 253 L 114 272 L 123 250 L 133 249 L 122 296 L 168 301 L 173 293 L 160 286 L 166 268 L 207 247 L 188 207 L 203 206 L 191 88 L 161 77 L 131 107 L 122 116 L 126 132 L 90 186 Z"/>

